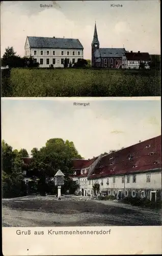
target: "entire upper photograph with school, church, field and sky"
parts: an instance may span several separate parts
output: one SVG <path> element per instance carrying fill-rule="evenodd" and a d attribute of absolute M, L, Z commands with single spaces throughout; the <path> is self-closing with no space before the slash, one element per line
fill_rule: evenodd
<path fill-rule="evenodd" d="M 160 2 L 2 1 L 2 97 L 160 96 Z"/>

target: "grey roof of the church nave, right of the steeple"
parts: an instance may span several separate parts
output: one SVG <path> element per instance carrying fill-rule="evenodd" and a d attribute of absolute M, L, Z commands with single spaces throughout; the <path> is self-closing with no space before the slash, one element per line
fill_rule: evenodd
<path fill-rule="evenodd" d="M 125 52 L 125 48 L 100 48 L 95 51 L 95 57 L 122 57 Z"/>

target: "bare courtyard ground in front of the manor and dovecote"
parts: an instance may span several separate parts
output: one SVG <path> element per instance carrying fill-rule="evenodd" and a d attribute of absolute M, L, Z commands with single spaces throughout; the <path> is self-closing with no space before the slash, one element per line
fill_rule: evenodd
<path fill-rule="evenodd" d="M 83 197 L 3 199 L 2 214 L 6 227 L 161 225 L 161 210 Z"/>

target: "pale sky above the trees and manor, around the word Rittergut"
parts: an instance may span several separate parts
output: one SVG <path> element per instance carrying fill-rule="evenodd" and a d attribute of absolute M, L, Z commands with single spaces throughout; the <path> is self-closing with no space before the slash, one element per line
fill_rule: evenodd
<path fill-rule="evenodd" d="M 29 154 L 62 138 L 88 159 L 160 134 L 160 97 L 2 98 L 2 139 Z"/>

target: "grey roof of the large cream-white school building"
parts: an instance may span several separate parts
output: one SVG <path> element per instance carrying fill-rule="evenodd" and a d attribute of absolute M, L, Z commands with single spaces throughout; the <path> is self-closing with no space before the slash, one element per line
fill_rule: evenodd
<path fill-rule="evenodd" d="M 31 48 L 84 49 L 78 39 L 28 36 Z"/>

